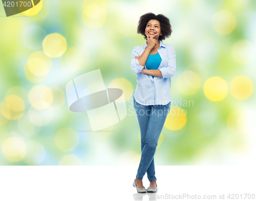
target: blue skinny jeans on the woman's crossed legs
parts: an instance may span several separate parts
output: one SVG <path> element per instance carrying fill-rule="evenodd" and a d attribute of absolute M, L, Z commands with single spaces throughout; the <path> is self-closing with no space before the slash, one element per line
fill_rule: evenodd
<path fill-rule="evenodd" d="M 142 180 L 147 173 L 148 180 L 157 180 L 155 177 L 154 155 L 156 152 L 159 136 L 167 114 L 170 111 L 170 103 L 167 105 L 144 106 L 135 101 L 136 112 L 141 137 L 141 159 L 136 178 Z"/>

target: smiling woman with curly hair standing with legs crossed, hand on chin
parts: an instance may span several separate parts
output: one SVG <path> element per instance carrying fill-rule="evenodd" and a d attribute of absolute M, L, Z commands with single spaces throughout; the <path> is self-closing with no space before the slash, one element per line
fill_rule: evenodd
<path fill-rule="evenodd" d="M 147 42 L 134 47 L 132 52 L 131 67 L 137 75 L 134 109 L 141 136 L 141 159 L 133 186 L 138 192 L 156 192 L 154 155 L 170 110 L 170 77 L 175 74 L 176 54 L 173 45 L 162 43 L 172 33 L 169 19 L 164 15 L 142 15 L 137 33 Z M 142 184 L 145 173 L 150 181 L 147 189 Z"/>

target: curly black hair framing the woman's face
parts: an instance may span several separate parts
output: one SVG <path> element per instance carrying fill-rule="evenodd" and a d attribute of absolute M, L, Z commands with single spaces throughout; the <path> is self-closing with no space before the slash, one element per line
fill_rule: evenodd
<path fill-rule="evenodd" d="M 137 33 L 143 35 L 144 38 L 147 39 L 145 35 L 145 28 L 146 28 L 147 22 L 152 19 L 156 19 L 160 22 L 162 36 L 159 36 L 158 40 L 160 41 L 165 40 L 165 38 L 168 38 L 172 34 L 173 31 L 172 31 L 172 26 L 170 26 L 169 19 L 165 17 L 163 14 L 155 15 L 154 13 L 146 13 L 140 16 Z"/>

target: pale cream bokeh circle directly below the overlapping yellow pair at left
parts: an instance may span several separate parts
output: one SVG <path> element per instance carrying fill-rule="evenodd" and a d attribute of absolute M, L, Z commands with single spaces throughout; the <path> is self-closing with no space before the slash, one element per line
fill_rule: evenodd
<path fill-rule="evenodd" d="M 33 87 L 29 92 L 29 102 L 38 110 L 49 108 L 53 102 L 52 90 L 45 85 Z"/>

